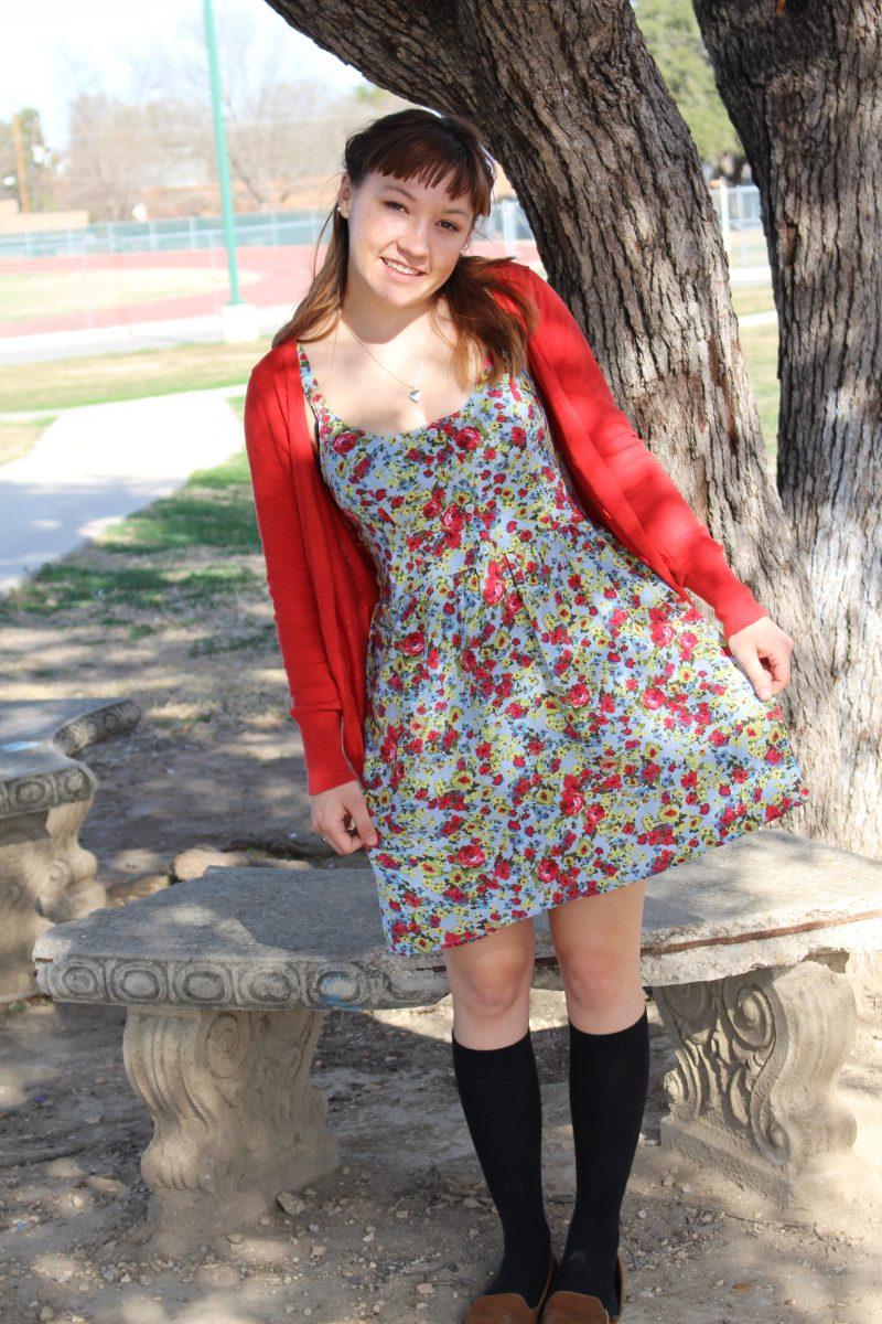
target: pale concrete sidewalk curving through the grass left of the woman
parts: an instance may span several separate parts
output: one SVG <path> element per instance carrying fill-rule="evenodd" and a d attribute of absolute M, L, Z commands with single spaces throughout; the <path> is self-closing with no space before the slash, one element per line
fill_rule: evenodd
<path fill-rule="evenodd" d="M 243 445 L 218 391 L 66 409 L 22 459 L 0 466 L 0 593 Z"/>

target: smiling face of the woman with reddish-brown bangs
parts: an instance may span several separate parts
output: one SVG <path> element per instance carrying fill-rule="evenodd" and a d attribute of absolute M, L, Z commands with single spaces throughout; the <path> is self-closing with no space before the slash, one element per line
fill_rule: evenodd
<path fill-rule="evenodd" d="M 454 270 L 472 232 L 468 196 L 372 171 L 357 188 L 344 175 L 339 205 L 349 220 L 348 281 L 405 307 L 424 302 Z M 401 270 L 403 267 L 403 270 Z"/>

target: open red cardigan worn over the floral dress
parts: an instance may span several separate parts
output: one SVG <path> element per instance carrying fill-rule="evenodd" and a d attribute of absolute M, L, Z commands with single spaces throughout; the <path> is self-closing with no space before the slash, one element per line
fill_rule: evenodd
<path fill-rule="evenodd" d="M 726 638 L 767 616 L 616 406 L 566 303 L 530 267 L 512 262 L 504 270 L 538 303 L 528 365 L 584 512 L 684 601 L 690 589 L 709 602 Z M 245 441 L 290 712 L 303 739 L 307 790 L 315 796 L 364 771 L 365 661 L 378 584 L 354 520 L 321 477 L 292 340 L 251 371 Z"/>

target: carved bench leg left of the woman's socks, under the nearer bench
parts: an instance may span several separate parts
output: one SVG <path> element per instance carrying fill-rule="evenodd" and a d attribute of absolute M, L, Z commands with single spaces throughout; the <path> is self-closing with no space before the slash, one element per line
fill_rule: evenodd
<path fill-rule="evenodd" d="M 323 1016 L 130 1006 L 126 1071 L 153 1117 L 141 1173 L 155 1253 L 254 1222 L 337 1165 L 309 1082 Z"/>

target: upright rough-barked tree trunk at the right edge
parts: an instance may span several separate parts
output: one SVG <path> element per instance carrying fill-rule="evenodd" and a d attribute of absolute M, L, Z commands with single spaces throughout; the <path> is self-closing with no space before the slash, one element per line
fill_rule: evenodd
<path fill-rule="evenodd" d="M 882 4 L 694 0 L 762 195 L 778 489 L 808 568 L 842 760 L 842 845 L 882 842 Z"/>

